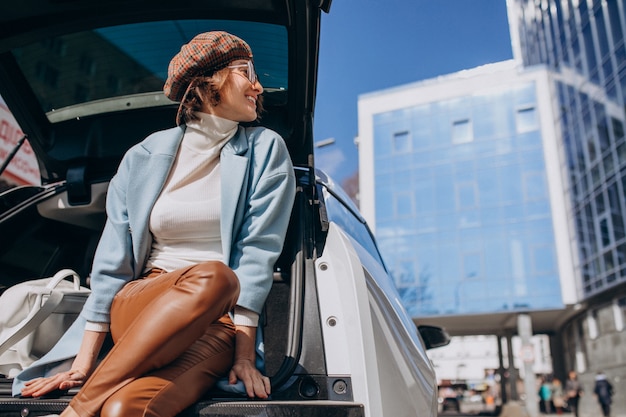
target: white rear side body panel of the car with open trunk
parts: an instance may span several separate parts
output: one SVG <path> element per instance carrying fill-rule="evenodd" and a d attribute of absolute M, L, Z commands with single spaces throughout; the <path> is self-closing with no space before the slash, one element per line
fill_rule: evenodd
<path fill-rule="evenodd" d="M 399 317 L 406 311 L 394 297 L 397 293 L 383 289 L 386 272 L 375 262 L 364 262 L 367 257 L 330 223 L 324 253 L 316 260 L 319 291 L 325 294 L 320 320 L 328 372 L 352 376 L 355 401 L 366 404 L 368 415 L 436 413 L 432 363 L 412 321 Z"/>

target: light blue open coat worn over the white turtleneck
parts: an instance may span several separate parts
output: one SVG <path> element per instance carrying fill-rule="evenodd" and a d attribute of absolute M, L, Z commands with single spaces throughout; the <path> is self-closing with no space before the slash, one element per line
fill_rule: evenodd
<path fill-rule="evenodd" d="M 115 294 L 138 278 L 150 253 L 150 211 L 167 179 L 184 126 L 156 132 L 124 156 L 107 193 L 107 221 L 94 256 L 92 293 L 61 340 L 13 382 L 19 395 L 25 381 L 67 366 L 80 347 L 86 321 L 109 322 Z M 239 127 L 220 157 L 224 260 L 237 274 L 237 304 L 261 312 L 272 285 L 295 195 L 291 159 L 283 139 L 262 127 Z M 62 364 L 62 365 L 60 365 Z"/>

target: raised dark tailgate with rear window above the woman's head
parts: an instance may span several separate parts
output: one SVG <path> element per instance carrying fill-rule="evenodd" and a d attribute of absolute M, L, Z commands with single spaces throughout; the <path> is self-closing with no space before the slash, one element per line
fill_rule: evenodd
<path fill-rule="evenodd" d="M 42 183 L 70 200 L 108 180 L 124 152 L 175 124 L 162 92 L 170 59 L 201 32 L 254 52 L 266 112 L 295 166 L 312 164 L 319 26 L 329 1 L 24 0 L 0 5 L 0 96 L 28 136 Z M 76 192 L 74 192 L 76 191 Z"/>

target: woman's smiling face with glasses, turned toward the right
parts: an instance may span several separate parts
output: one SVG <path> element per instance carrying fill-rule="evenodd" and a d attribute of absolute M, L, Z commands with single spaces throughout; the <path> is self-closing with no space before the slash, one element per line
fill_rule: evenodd
<path fill-rule="evenodd" d="M 235 122 L 256 120 L 257 99 L 263 93 L 263 86 L 257 79 L 250 82 L 247 62 L 240 59 L 230 63 L 230 73 L 220 91 L 220 102 L 216 106 L 205 105 L 204 112 Z"/>

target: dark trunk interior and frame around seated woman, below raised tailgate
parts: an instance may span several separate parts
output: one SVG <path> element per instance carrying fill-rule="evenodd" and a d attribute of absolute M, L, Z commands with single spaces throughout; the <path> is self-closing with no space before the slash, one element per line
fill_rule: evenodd
<path fill-rule="evenodd" d="M 243 394 L 215 388 L 182 415 L 303 415 L 314 407 L 315 415 L 360 415 L 360 407 L 320 408 L 319 400 L 351 400 L 331 389 L 335 383 L 326 372 L 314 281 L 314 242 L 321 236 L 320 219 L 310 194 L 310 171 L 296 169 L 298 191 L 284 250 L 274 268 L 274 283 L 266 301 L 261 326 L 265 345 L 265 371 L 271 378 L 271 401 L 249 400 Z M 93 184 L 95 204 L 67 204 L 68 186 L 33 187 L 37 194 L 0 215 L 0 234 L 15 236 L 0 242 L 0 282 L 3 287 L 57 270 L 72 268 L 88 285 L 95 247 L 104 225 L 106 183 Z M 70 218 L 63 211 L 71 211 Z M 100 227 L 98 227 L 100 226 Z M 27 256 L 28 260 L 24 257 Z M 4 288 L 3 288 L 4 289 Z M 60 412 L 77 390 L 43 399 L 11 398 L 12 380 L 0 379 L 0 416 L 44 415 Z M 60 394 L 60 395 L 59 395 Z M 318 400 L 313 406 L 311 401 Z M 258 410 L 254 411 L 254 404 Z M 308 405 L 307 405 L 308 404 Z M 304 408 L 303 408 L 304 407 Z M 290 411 L 291 410 L 291 411 Z M 342 411 L 339 411 L 342 410 Z M 22 413 L 22 414 L 20 414 Z M 276 413 L 276 414 L 275 414 Z M 287 414 L 285 414 L 287 413 Z M 291 414 L 296 413 L 296 414 Z M 306 413 L 305 413 L 306 414 Z"/>

